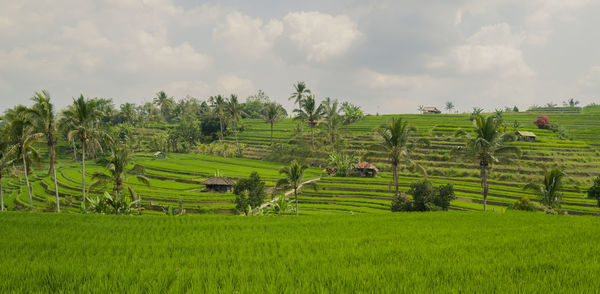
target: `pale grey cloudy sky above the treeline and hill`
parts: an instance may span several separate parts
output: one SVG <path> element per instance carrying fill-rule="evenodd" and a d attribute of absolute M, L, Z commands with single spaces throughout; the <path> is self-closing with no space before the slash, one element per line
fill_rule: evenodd
<path fill-rule="evenodd" d="M 368 113 L 600 103 L 600 1 L 8 1 L 0 111 L 46 89 L 149 102 L 305 81 Z"/>

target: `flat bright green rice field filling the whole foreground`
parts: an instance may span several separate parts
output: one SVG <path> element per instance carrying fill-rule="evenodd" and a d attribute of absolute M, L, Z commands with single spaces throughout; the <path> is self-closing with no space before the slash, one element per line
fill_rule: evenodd
<path fill-rule="evenodd" d="M 0 214 L 0 292 L 600 289 L 600 219 L 481 212 L 312 217 Z"/>

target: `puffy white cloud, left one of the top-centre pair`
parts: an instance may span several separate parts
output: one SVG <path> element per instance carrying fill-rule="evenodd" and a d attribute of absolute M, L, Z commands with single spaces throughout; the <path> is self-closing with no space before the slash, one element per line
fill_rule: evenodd
<path fill-rule="evenodd" d="M 283 32 L 283 24 L 275 19 L 268 23 L 238 11 L 227 15 L 213 30 L 213 39 L 234 56 L 261 57 L 273 47 Z"/>

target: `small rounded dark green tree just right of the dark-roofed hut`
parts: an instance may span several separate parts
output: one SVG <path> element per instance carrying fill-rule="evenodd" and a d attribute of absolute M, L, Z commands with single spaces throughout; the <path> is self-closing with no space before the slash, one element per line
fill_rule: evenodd
<path fill-rule="evenodd" d="M 248 207 L 260 207 L 265 202 L 265 182 L 260 179 L 258 172 L 254 171 L 247 179 L 240 179 L 233 186 L 235 208 L 237 211 L 246 211 Z"/>

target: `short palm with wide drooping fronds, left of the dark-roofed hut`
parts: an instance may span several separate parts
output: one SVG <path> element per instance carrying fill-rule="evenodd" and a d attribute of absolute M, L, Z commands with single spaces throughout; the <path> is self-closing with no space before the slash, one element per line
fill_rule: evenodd
<path fill-rule="evenodd" d="M 90 185 L 88 191 L 91 191 L 94 187 L 105 186 L 112 183 L 113 191 L 115 191 L 117 196 L 117 201 L 120 198 L 121 190 L 123 190 L 123 188 L 127 188 L 131 197 L 135 198 L 135 191 L 126 183 L 127 174 L 135 175 L 138 181 L 150 186 L 150 180 L 144 175 L 144 168 L 140 165 L 134 165 L 133 168 L 127 170 L 127 166 L 133 159 L 129 150 L 123 146 L 112 146 L 110 149 L 110 155 L 98 161 L 99 164 L 104 165 L 107 173 L 100 171 L 95 172 L 92 175 L 92 179 L 96 181 Z"/>

